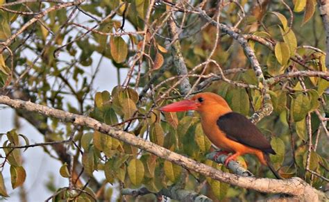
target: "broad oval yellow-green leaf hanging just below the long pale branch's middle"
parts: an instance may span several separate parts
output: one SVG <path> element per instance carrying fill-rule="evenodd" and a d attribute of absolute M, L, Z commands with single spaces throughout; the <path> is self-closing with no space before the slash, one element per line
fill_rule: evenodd
<path fill-rule="evenodd" d="M 130 160 L 128 165 L 128 176 L 130 178 L 130 182 L 133 185 L 140 185 L 144 178 L 144 165 L 142 161 L 138 159 Z"/>

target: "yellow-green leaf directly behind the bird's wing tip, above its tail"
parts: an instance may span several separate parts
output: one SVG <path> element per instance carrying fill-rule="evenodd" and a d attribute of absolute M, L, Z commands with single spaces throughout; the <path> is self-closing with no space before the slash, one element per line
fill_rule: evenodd
<path fill-rule="evenodd" d="M 271 140 L 271 146 L 276 155 L 270 155 L 271 162 L 273 165 L 278 168 L 282 165 L 283 160 L 285 159 L 285 143 L 279 137 L 273 137 Z"/>

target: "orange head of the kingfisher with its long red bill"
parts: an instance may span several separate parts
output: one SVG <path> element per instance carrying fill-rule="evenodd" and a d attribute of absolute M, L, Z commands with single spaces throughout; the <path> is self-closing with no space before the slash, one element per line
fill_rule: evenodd
<path fill-rule="evenodd" d="M 212 92 L 196 94 L 191 99 L 171 103 L 160 108 L 160 110 L 164 112 L 196 110 L 201 116 L 205 114 L 223 114 L 232 111 L 221 96 Z"/>

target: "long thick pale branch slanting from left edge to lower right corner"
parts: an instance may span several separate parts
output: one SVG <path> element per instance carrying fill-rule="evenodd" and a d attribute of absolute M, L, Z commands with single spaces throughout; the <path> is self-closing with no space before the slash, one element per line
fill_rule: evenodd
<path fill-rule="evenodd" d="M 31 101 L 10 99 L 8 96 L 2 95 L 0 96 L 0 103 L 6 106 L 11 106 L 12 108 L 27 110 L 28 112 L 38 112 L 47 117 L 54 117 L 64 122 L 72 122 L 75 126 L 86 126 L 88 128 L 92 128 L 96 131 L 100 131 L 101 133 L 108 134 L 117 140 L 121 140 L 127 144 L 137 146 L 144 151 L 153 153 L 160 158 L 174 162 L 175 164 L 180 165 L 185 169 L 196 171 L 200 174 L 203 174 L 204 176 L 209 176 L 210 178 L 220 180 L 224 183 L 229 183 L 230 185 L 237 185 L 239 187 L 257 190 L 259 192 L 290 194 L 298 196 L 300 199 L 305 201 L 319 201 L 322 199 L 328 200 L 328 197 L 325 194 L 315 190 L 313 187 L 305 183 L 305 181 L 301 180 L 301 178 L 276 180 L 269 178 L 237 176 L 235 174 L 229 174 L 214 169 L 213 167 L 204 165 L 201 162 L 196 162 L 183 155 L 169 151 L 168 149 L 165 149 L 158 144 L 154 144 L 148 140 L 136 137 L 131 133 L 126 133 L 117 128 L 113 128 L 90 117 L 49 108 L 47 106 L 32 103 Z"/>

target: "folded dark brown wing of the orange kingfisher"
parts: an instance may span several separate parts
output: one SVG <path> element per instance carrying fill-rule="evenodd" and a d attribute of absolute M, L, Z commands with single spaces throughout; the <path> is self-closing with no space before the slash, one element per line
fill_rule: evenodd
<path fill-rule="evenodd" d="M 219 129 L 226 133 L 226 137 L 246 146 L 260 149 L 265 153 L 276 152 L 260 130 L 244 115 L 237 112 L 228 112 L 217 120 Z"/>

